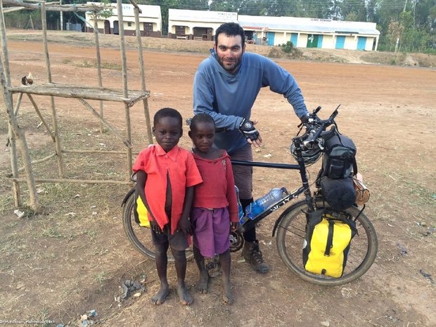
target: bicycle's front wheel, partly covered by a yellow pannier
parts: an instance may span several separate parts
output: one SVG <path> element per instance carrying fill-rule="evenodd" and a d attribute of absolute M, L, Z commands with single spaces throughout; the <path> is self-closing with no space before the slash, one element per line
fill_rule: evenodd
<path fill-rule="evenodd" d="M 316 202 L 316 208 L 321 209 L 323 202 Z M 348 253 L 347 265 L 341 277 L 334 278 L 313 274 L 304 269 L 302 261 L 302 248 L 306 230 L 306 214 L 308 207 L 303 200 L 295 203 L 286 212 L 278 224 L 276 245 L 278 255 L 280 255 L 286 266 L 297 276 L 321 286 L 336 286 L 350 283 L 366 273 L 373 264 L 377 255 L 378 241 L 376 230 L 366 215 L 357 207 L 350 207 L 347 210 L 356 219 L 358 234 L 351 241 L 350 252 Z"/>

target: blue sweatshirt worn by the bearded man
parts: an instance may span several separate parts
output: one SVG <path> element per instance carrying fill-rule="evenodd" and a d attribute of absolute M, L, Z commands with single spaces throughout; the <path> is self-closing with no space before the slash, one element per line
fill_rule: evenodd
<path fill-rule="evenodd" d="M 239 125 L 243 118 L 250 119 L 252 105 L 264 86 L 283 94 L 298 117 L 307 114 L 302 92 L 294 77 L 269 58 L 245 52 L 234 74 L 222 68 L 214 49 L 210 57 L 200 63 L 194 77 L 193 110 L 194 114 L 211 115 L 217 128 L 226 129 L 215 135 L 217 148 L 225 149 L 231 155 L 247 144 L 239 132 Z"/>

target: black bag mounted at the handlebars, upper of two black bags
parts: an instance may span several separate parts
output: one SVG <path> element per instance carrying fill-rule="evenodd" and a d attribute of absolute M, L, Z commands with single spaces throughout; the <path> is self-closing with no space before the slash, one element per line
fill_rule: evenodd
<path fill-rule="evenodd" d="M 342 134 L 335 134 L 324 143 L 323 167 L 321 176 L 331 179 L 345 179 L 357 174 L 356 151 L 352 139 Z"/>

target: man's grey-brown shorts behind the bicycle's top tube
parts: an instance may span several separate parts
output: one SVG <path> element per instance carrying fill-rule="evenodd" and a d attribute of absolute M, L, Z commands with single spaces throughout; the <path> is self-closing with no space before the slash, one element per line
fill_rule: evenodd
<path fill-rule="evenodd" d="M 252 161 L 253 154 L 250 144 L 229 153 L 232 160 Z M 239 188 L 239 198 L 248 200 L 252 198 L 253 191 L 253 167 L 232 165 L 235 184 Z"/>

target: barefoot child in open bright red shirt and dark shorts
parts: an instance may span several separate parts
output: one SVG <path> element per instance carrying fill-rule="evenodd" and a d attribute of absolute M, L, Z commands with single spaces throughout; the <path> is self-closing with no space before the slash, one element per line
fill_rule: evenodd
<path fill-rule="evenodd" d="M 193 201 L 193 186 L 200 184 L 202 179 L 192 153 L 177 146 L 183 134 L 181 124 L 182 118 L 177 110 L 158 110 L 153 120 L 153 135 L 158 144 L 142 150 L 133 166 L 136 191 L 148 210 L 151 237 L 155 245 L 160 289 L 151 298 L 154 304 L 162 304 L 169 294 L 169 247 L 174 256 L 180 302 L 193 302 L 185 286 L 185 250 L 188 248 L 189 234 L 192 233 L 188 215 Z"/>

